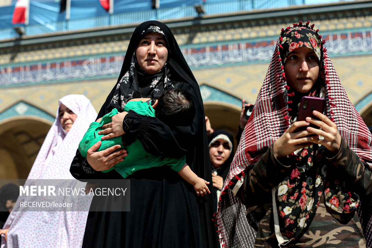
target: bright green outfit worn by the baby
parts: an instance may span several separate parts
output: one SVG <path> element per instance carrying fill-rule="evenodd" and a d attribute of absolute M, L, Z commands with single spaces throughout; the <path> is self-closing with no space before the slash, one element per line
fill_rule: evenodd
<path fill-rule="evenodd" d="M 124 106 L 124 111 L 128 112 L 128 110 L 133 110 L 139 115 L 155 117 L 155 110 L 153 109 L 153 107 L 151 107 L 151 105 L 147 104 L 146 102 L 142 101 L 128 102 Z M 98 134 L 98 131 L 102 130 L 101 127 L 103 125 L 110 123 L 112 116 L 116 115 L 117 113 L 118 110 L 113 109 L 110 113 L 103 116 L 100 122 L 92 122 L 90 124 L 87 132 L 84 134 L 84 137 L 79 144 L 79 151 L 84 158 L 87 157 L 88 149 L 92 147 L 92 145 L 100 141 L 102 136 L 105 136 L 105 134 Z M 97 149 L 97 151 L 105 150 L 114 145 L 121 145 L 122 144 L 121 139 L 122 137 L 119 136 L 111 139 L 102 140 L 102 144 Z M 124 157 L 124 161 L 119 162 L 112 168 L 102 172 L 107 173 L 115 169 L 119 174 L 126 178 L 135 171 L 151 167 L 160 167 L 163 165 L 169 165 L 172 170 L 178 172 L 182 169 L 183 165 L 186 162 L 186 156 L 183 156 L 182 158 L 167 158 L 152 155 L 145 151 L 141 142 L 138 139 L 136 139 L 129 146 L 121 146 L 120 149 L 122 148 L 125 148 L 126 151 L 128 152 L 128 156 Z"/>

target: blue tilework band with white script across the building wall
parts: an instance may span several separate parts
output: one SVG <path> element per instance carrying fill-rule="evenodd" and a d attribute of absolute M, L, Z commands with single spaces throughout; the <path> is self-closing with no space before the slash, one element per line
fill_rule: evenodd
<path fill-rule="evenodd" d="M 372 54 L 372 30 L 326 35 L 326 47 L 332 57 Z M 276 40 L 235 41 L 219 45 L 183 48 L 192 69 L 267 62 Z M 124 56 L 86 58 L 0 68 L 0 88 L 107 78 L 118 75 Z"/>

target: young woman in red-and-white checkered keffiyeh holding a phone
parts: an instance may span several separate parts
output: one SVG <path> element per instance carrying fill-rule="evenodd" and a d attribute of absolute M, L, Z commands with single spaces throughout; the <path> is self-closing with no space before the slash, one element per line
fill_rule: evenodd
<path fill-rule="evenodd" d="M 370 247 L 372 137 L 324 43 L 282 29 L 221 193 L 224 247 Z M 296 122 L 302 96 L 325 98 L 320 120 Z"/>

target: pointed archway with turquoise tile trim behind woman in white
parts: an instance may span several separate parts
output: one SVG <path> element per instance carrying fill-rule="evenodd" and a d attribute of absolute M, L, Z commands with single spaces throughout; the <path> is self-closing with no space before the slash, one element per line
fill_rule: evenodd
<path fill-rule="evenodd" d="M 0 112 L 0 179 L 26 179 L 54 120 L 23 100 Z"/>

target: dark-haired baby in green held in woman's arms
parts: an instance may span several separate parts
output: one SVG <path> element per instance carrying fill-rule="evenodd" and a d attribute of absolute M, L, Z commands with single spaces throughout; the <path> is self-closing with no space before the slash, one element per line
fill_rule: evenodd
<path fill-rule="evenodd" d="M 152 104 L 152 105 L 151 105 Z M 153 101 L 150 98 L 136 98 L 131 99 L 124 106 L 124 112 L 132 110 L 139 115 L 148 117 L 157 117 L 168 126 L 189 126 L 195 116 L 195 104 L 189 94 L 186 91 L 179 88 L 173 88 L 165 91 L 161 96 Z M 83 157 L 86 158 L 87 150 L 100 141 L 102 136 L 105 134 L 99 134 L 102 131 L 102 126 L 110 123 L 112 116 L 118 113 L 117 109 L 113 109 L 110 113 L 106 114 L 96 122 L 92 122 L 89 126 L 88 131 L 85 133 L 83 139 L 79 144 L 79 151 Z M 122 136 L 113 137 L 110 139 L 102 139 L 102 144 L 97 151 L 102 151 L 113 145 L 121 145 L 121 148 L 125 148 L 128 155 L 125 157 L 125 161 L 121 161 L 108 170 L 102 172 L 107 173 L 115 169 L 123 178 L 127 178 L 135 171 L 146 169 L 150 167 L 160 167 L 163 165 L 169 165 L 174 171 L 190 183 L 198 196 L 204 196 L 210 191 L 203 178 L 198 177 L 186 164 L 186 156 L 181 158 L 168 158 L 162 156 L 155 156 L 145 151 L 141 142 L 138 139 L 134 139 L 132 144 L 128 146 L 122 145 Z M 87 186 L 91 186 L 87 184 Z"/>

